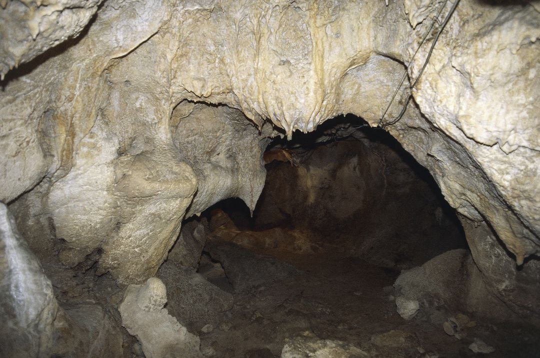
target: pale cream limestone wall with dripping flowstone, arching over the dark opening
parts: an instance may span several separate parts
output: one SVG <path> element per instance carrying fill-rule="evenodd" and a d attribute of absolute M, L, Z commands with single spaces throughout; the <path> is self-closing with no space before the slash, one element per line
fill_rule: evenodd
<path fill-rule="evenodd" d="M 25 3 L 32 17 L 21 13 Z M 0 16 L 11 20 L 0 22 L 0 200 L 34 249 L 61 238 L 66 265 L 100 249 L 102 271 L 141 281 L 165 258 L 201 182 L 171 135 L 180 102 L 236 108 L 288 136 L 341 113 L 375 126 L 403 64 L 411 78 L 419 74 L 429 46 L 413 59 L 414 51 L 445 4 L 446 16 L 451 4 L 442 1 L 2 2 Z M 458 212 L 491 225 L 518 264 L 540 249 L 538 36 L 534 2 L 461 2 L 413 102 L 387 128 Z M 255 148 L 276 133 L 245 135 L 259 135 Z M 262 166 L 257 150 L 241 155 Z M 221 190 L 253 201 L 260 187 Z M 482 247 L 475 260 L 491 257 L 487 237 L 468 240 Z M 479 267 L 492 293 L 515 299 L 503 292 L 518 295 L 515 279 L 501 288 Z"/>

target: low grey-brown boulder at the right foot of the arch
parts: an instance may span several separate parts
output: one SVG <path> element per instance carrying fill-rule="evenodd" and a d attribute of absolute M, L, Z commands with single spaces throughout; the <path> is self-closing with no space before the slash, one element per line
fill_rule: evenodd
<path fill-rule="evenodd" d="M 523 276 L 527 277 L 527 274 Z M 464 310 L 494 322 L 525 319 L 539 323 L 536 316 L 531 315 L 534 312 L 531 309 L 534 299 L 530 296 L 523 299 L 504 297 L 504 286 L 499 284 L 497 290 L 490 286 L 492 280 L 484 281 L 468 251 L 458 249 L 445 252 L 422 266 L 402 271 L 394 284 L 397 312 L 406 320 L 419 314 L 437 325 L 443 324 L 438 322 L 440 312 L 458 313 Z M 507 281 L 507 285 L 510 285 L 510 281 Z M 535 291 L 538 289 L 536 285 L 531 283 L 519 292 L 527 294 Z M 507 294 L 511 295 L 510 292 Z M 503 302 L 521 302 L 522 306 L 504 305 Z"/>

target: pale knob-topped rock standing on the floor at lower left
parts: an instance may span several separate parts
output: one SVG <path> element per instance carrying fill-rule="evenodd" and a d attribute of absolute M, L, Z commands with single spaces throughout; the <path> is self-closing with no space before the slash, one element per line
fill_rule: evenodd
<path fill-rule="evenodd" d="M 149 282 L 150 281 L 150 282 Z M 201 357 L 199 338 L 189 332 L 168 314 L 166 308 L 152 311 L 141 309 L 138 299 L 141 291 L 144 294 L 160 297 L 163 301 L 163 288 L 157 284 L 159 279 L 151 278 L 144 285 L 129 285 L 124 294 L 124 300 L 119 306 L 122 315 L 122 325 L 127 332 L 137 337 L 143 346 L 147 358 L 158 357 Z M 157 292 L 152 288 L 158 288 Z"/>

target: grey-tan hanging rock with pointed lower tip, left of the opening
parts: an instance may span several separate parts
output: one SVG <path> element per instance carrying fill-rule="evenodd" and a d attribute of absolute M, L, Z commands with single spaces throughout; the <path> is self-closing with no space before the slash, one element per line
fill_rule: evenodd
<path fill-rule="evenodd" d="M 222 199 L 241 198 L 252 211 L 265 183 L 261 158 L 272 133 L 263 132 L 238 109 L 181 102 L 172 113 L 174 144 L 195 171 L 197 194 L 186 216 L 197 214 Z M 188 114 L 186 114 L 186 111 Z"/>

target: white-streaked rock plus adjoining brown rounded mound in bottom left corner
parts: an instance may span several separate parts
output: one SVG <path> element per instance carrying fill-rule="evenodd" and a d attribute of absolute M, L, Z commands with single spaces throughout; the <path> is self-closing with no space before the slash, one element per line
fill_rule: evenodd
<path fill-rule="evenodd" d="M 4 357 L 119 356 L 122 335 L 99 305 L 62 308 L 43 267 L 0 203 L 0 354 Z"/>

